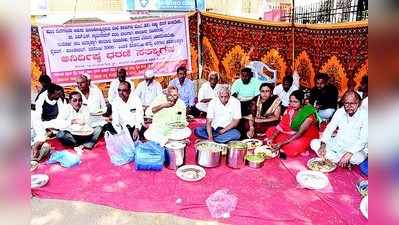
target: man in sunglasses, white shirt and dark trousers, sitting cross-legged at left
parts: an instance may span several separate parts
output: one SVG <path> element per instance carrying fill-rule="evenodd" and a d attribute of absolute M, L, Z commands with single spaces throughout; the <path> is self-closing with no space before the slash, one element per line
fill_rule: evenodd
<path fill-rule="evenodd" d="M 100 137 L 102 127 L 94 127 L 93 134 L 89 136 L 76 136 L 72 135 L 70 131 L 66 130 L 73 124 L 84 127 L 89 125 L 90 116 L 86 106 L 82 106 L 82 95 L 74 91 L 69 94 L 69 104 L 65 106 L 59 118 L 57 118 L 57 127 L 60 131 L 57 133 L 57 138 L 63 145 L 82 147 L 92 149 Z"/>

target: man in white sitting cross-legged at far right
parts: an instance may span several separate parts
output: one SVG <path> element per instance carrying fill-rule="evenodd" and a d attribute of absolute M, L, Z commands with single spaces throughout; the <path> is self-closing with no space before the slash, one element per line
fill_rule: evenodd
<path fill-rule="evenodd" d="M 367 157 L 368 114 L 360 108 L 358 93 L 347 91 L 342 99 L 344 107 L 335 112 L 321 139 L 312 140 L 311 147 L 320 157 L 346 167 Z"/>

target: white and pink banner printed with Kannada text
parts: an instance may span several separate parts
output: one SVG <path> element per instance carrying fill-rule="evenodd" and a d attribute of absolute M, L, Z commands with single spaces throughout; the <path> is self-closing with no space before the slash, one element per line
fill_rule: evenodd
<path fill-rule="evenodd" d="M 106 81 L 124 67 L 128 76 L 148 69 L 171 75 L 191 71 L 186 16 L 113 24 L 43 26 L 40 38 L 46 69 L 55 83 L 71 84 L 82 73 Z"/>

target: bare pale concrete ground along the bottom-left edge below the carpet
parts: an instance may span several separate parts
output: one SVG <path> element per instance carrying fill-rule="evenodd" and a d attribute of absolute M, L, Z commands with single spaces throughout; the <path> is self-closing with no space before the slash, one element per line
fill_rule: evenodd
<path fill-rule="evenodd" d="M 165 213 L 141 213 L 86 202 L 32 198 L 31 225 L 219 225 Z"/>

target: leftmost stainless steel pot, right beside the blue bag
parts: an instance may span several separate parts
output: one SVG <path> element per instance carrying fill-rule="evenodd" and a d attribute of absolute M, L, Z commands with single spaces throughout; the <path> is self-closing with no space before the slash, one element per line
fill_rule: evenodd
<path fill-rule="evenodd" d="M 165 145 L 165 163 L 168 169 L 176 170 L 184 164 L 186 144 L 182 141 L 171 141 Z"/>

